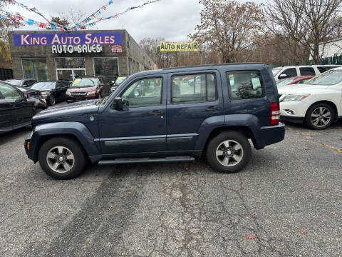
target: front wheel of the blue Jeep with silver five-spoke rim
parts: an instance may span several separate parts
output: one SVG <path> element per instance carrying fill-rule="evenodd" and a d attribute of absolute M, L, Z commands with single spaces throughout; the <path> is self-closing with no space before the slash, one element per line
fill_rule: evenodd
<path fill-rule="evenodd" d="M 57 179 L 75 178 L 86 166 L 82 146 L 71 138 L 51 138 L 39 149 L 38 160 L 48 176 Z"/>

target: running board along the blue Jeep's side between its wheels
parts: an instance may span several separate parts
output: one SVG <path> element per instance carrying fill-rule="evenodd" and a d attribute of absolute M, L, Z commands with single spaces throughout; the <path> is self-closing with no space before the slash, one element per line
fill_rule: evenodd
<path fill-rule="evenodd" d="M 175 156 L 165 158 L 116 158 L 114 160 L 102 160 L 98 165 L 121 164 L 121 163 L 157 163 L 157 162 L 176 162 L 176 161 L 195 161 L 190 156 Z"/>

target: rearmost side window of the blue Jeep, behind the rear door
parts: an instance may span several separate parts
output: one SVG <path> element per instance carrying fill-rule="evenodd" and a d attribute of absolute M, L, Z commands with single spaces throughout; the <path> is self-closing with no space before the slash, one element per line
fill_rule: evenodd
<path fill-rule="evenodd" d="M 259 71 L 228 71 L 227 84 L 232 99 L 256 99 L 264 96 Z"/>

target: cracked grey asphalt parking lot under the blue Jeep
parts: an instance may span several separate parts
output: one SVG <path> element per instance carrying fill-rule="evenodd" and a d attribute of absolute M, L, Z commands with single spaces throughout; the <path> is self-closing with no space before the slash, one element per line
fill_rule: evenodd
<path fill-rule="evenodd" d="M 342 122 L 286 124 L 244 171 L 89 166 L 56 181 L 0 136 L 0 256 L 341 256 Z"/>

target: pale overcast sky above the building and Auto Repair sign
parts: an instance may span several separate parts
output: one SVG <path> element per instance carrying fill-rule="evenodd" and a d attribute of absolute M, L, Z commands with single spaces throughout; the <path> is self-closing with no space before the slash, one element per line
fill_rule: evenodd
<path fill-rule="evenodd" d="M 44 16 L 58 16 L 60 12 L 70 9 L 81 10 L 84 18 L 98 10 L 109 0 L 16 0 L 29 8 L 36 7 Z M 99 17 L 108 17 L 125 11 L 128 7 L 143 4 L 147 0 L 113 0 L 113 4 L 100 14 Z M 240 0 L 243 1 L 243 0 Z M 257 0 L 260 3 L 262 0 Z M 101 21 L 87 29 L 126 29 L 135 41 L 145 37 L 157 38 L 162 36 L 165 41 L 188 41 L 187 35 L 195 32 L 200 23 L 199 13 L 202 6 L 198 0 L 160 0 L 148 4 L 140 9 L 133 9 L 116 19 Z M 28 19 L 46 22 L 38 14 L 26 11 L 20 6 L 9 5 L 8 10 L 19 12 Z M 38 30 L 37 26 L 23 26 L 23 30 Z"/>

